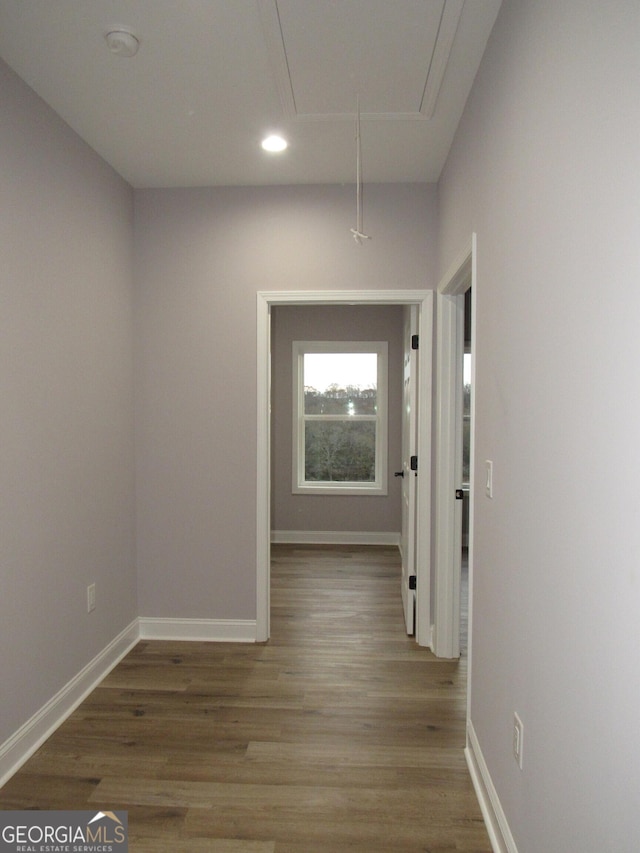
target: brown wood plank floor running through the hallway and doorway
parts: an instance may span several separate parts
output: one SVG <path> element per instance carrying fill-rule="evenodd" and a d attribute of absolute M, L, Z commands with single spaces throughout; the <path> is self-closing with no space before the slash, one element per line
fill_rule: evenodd
<path fill-rule="evenodd" d="M 135 853 L 489 853 L 465 658 L 407 638 L 397 550 L 272 556 L 268 643 L 140 642 L 0 808 L 128 810 Z"/>

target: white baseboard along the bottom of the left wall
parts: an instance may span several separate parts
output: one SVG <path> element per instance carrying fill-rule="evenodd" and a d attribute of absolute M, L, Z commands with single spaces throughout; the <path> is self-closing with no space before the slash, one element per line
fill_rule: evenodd
<path fill-rule="evenodd" d="M 0 746 L 0 788 L 138 642 L 135 619 Z"/>

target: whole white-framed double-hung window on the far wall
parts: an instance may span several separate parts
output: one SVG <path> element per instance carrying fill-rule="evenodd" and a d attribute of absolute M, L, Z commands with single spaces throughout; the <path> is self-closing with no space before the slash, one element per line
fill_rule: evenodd
<path fill-rule="evenodd" d="M 293 491 L 387 493 L 386 341 L 294 341 Z"/>

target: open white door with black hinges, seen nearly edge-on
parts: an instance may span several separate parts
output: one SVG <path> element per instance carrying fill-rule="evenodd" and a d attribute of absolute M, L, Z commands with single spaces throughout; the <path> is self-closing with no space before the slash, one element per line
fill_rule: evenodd
<path fill-rule="evenodd" d="M 405 308 L 404 322 L 404 386 L 402 405 L 402 606 L 407 634 L 415 633 L 416 611 L 416 477 L 412 458 L 417 460 L 417 339 L 418 312 L 413 305 Z"/>

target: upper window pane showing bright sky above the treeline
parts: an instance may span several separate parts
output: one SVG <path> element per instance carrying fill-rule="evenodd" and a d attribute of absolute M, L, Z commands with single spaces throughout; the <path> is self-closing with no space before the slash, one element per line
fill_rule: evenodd
<path fill-rule="evenodd" d="M 376 353 L 305 353 L 303 369 L 305 414 L 376 414 Z"/>

